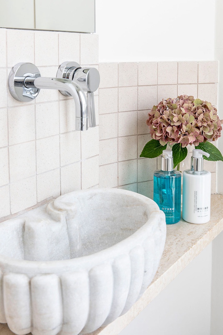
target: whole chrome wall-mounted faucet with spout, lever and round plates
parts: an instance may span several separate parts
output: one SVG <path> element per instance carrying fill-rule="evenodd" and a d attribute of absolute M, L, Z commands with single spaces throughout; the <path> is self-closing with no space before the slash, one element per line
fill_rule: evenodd
<path fill-rule="evenodd" d="M 100 76 L 95 68 L 81 68 L 75 62 L 63 63 L 57 78 L 42 78 L 34 64 L 18 63 L 8 78 L 9 91 L 18 101 L 35 99 L 41 88 L 58 89 L 62 94 L 72 96 L 76 104 L 76 130 L 87 130 L 88 118 L 89 127 L 96 126 L 93 92 L 99 82 Z M 87 91 L 87 100 L 84 91 Z"/>

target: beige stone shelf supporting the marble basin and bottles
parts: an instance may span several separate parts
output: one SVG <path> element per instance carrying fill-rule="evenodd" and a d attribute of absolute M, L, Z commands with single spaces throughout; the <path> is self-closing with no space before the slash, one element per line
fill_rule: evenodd
<path fill-rule="evenodd" d="M 223 195 L 211 196 L 211 219 L 204 224 L 181 220 L 167 225 L 166 243 L 158 271 L 141 298 L 123 316 L 91 335 L 118 335 L 223 230 Z M 12 335 L 0 324 L 0 335 Z"/>

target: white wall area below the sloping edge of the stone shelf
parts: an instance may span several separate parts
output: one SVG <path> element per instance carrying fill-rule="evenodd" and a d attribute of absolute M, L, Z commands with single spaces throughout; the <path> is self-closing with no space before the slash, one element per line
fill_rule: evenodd
<path fill-rule="evenodd" d="M 210 335 L 211 245 L 205 248 L 120 335 Z M 222 333 L 213 333 L 220 335 Z"/>

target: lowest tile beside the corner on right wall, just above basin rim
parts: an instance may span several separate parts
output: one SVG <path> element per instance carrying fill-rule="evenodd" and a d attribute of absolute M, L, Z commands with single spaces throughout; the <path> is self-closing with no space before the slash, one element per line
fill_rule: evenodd
<path fill-rule="evenodd" d="M 99 166 L 99 187 L 118 186 L 118 163 Z"/>

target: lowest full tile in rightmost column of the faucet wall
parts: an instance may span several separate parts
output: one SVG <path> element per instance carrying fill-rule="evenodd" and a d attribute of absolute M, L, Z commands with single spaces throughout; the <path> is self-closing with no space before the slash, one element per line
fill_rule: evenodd
<path fill-rule="evenodd" d="M 98 156 L 82 160 L 81 178 L 83 190 L 99 183 Z"/>

